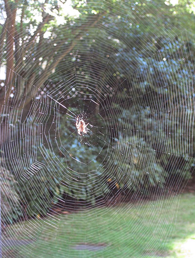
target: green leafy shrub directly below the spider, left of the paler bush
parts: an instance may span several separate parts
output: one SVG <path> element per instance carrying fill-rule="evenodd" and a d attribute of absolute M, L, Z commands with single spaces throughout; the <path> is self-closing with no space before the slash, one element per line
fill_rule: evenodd
<path fill-rule="evenodd" d="M 50 141 L 51 148 L 33 147 L 37 158 L 30 166 L 25 159 L 20 160 L 26 166 L 18 174 L 17 191 L 28 216 L 46 215 L 64 194 L 95 204 L 96 198 L 109 192 L 102 161 L 97 159 L 101 146 L 81 142 L 75 123 L 64 117 L 58 132 L 60 140 L 51 135 L 51 139 L 56 139 Z M 59 146 L 59 142 L 63 144 Z"/>

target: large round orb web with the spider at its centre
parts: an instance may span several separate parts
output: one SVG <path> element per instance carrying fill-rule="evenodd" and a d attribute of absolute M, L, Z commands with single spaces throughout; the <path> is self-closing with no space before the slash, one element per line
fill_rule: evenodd
<path fill-rule="evenodd" d="M 19 217 L 20 223 L 3 236 L 5 257 L 12 257 L 5 240 L 17 239 L 18 234 L 19 240 L 30 243 L 14 246 L 18 257 L 48 257 L 48 253 L 51 257 L 91 257 L 86 250 L 78 253 L 72 248 L 83 242 L 106 242 L 106 248 L 93 253 L 93 257 L 110 257 L 112 246 L 118 241 L 107 239 L 106 230 L 110 228 L 121 239 L 115 257 L 137 257 L 140 234 L 148 239 L 147 245 L 141 247 L 144 257 L 147 250 L 156 249 L 156 238 L 148 230 L 142 231 L 143 214 L 151 217 L 148 227 L 157 215 L 159 228 L 164 224 L 164 230 L 155 228 L 162 239 L 163 253 L 163 244 L 173 231 L 171 223 L 176 219 L 180 193 L 187 182 L 186 171 L 194 162 L 195 74 L 192 56 L 186 49 L 190 46 L 184 46 L 182 40 L 190 32 L 179 25 L 179 29 L 172 24 L 167 27 L 160 7 L 153 3 L 150 10 L 148 2 L 143 1 L 140 6 L 138 2 L 122 1 L 120 8 L 116 4 L 109 16 L 106 1 L 89 2 L 86 9 L 78 8 L 82 15 L 64 27 L 65 38 L 46 38 L 47 44 L 38 56 L 31 46 L 25 55 L 25 67 L 19 63 L 10 71 L 15 74 L 14 86 L 1 83 L 5 101 L 0 107 L 0 137 L 1 141 L 6 139 L 1 145 L 1 169 L 15 175 L 15 187 L 23 191 L 22 204 L 16 198 L 15 205 L 26 218 L 33 217 L 27 223 Z M 96 31 L 90 30 L 94 14 L 88 13 L 86 22 L 86 12 L 93 7 L 100 14 Z M 127 8 L 131 10 L 129 14 Z M 155 22 L 150 18 L 141 20 L 140 13 L 146 12 L 159 18 Z M 113 20 L 116 27 L 111 25 Z M 144 22 L 150 25 L 149 32 L 139 29 Z M 75 38 L 74 32 L 82 23 L 82 36 Z M 132 26 L 137 27 L 137 34 L 132 35 Z M 63 28 L 56 28 L 53 34 L 58 36 L 58 30 Z M 144 33 L 148 36 L 141 38 Z M 139 38 L 140 47 L 130 40 L 132 37 Z M 74 47 L 70 50 L 72 40 Z M 62 45 L 68 53 L 64 58 L 58 48 Z M 156 45 L 160 46 L 157 51 Z M 124 48 L 124 56 L 118 51 L 120 48 Z M 31 85 L 21 76 L 21 69 L 28 74 L 32 65 L 36 73 L 42 74 L 42 56 L 47 56 L 49 63 L 53 54 L 59 63 L 50 71 L 49 79 L 38 77 Z M 118 79 L 120 73 L 123 76 Z M 77 118 L 89 123 L 88 132 L 81 136 L 76 128 Z M 161 163 L 168 172 L 161 169 Z M 180 173 L 177 175 L 176 171 Z M 46 195 L 45 204 L 40 205 L 44 191 L 55 188 L 55 177 L 60 179 L 59 191 Z M 151 182 L 155 182 L 154 187 L 145 187 Z M 155 201 L 158 196 L 162 201 L 168 194 L 173 199 L 168 217 L 160 216 L 163 203 L 144 206 L 145 200 Z M 119 199 L 124 202 L 122 208 L 113 206 Z M 93 208 L 94 205 L 101 208 Z M 61 213 L 78 211 L 79 207 L 82 209 L 77 216 L 64 217 Z M 121 209 L 123 217 L 119 215 Z M 39 216 L 42 211 L 46 217 Z M 131 222 L 126 221 L 129 214 L 135 218 Z M 7 216 L 6 208 L 1 211 L 3 216 Z M 76 236 L 70 234 L 70 238 L 63 239 L 63 231 L 74 230 L 68 225 L 77 225 Z M 120 234 L 120 227 L 126 228 L 126 234 Z M 165 236 L 167 228 L 170 234 Z M 131 254 L 127 246 L 132 247 Z"/>

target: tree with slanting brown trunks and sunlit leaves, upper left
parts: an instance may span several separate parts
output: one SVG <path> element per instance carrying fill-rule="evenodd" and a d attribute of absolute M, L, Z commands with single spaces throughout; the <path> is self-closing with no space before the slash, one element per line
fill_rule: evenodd
<path fill-rule="evenodd" d="M 104 13 L 93 14 L 89 19 L 83 18 L 83 22 L 74 26 L 70 31 L 69 26 L 73 18 L 69 15 L 60 15 L 62 8 L 55 0 L 45 0 L 40 6 L 38 1 L 30 5 L 27 0 L 5 0 L 2 8 L 5 8 L 6 18 L 1 30 L 0 45 L 3 45 L 5 37 L 6 42 L 1 48 L 0 62 L 6 63 L 6 79 L 5 87 L 2 87 L 0 91 L 0 105 L 11 105 L 9 103 L 13 102 L 12 94 L 16 92 L 21 100 L 23 94 L 26 95 L 27 98 L 22 107 L 29 109 L 32 98 L 39 92 L 40 87 L 56 69 L 59 62 L 70 53 L 77 44 L 77 40 L 90 27 L 96 26 Z M 16 20 L 17 12 L 20 13 L 20 21 Z M 41 16 L 40 22 L 33 19 L 33 12 L 38 12 L 37 17 Z M 58 26 L 56 17 L 62 18 L 67 24 Z M 52 30 L 51 37 L 45 38 L 44 34 L 48 27 Z M 64 32 L 66 37 L 69 36 L 67 38 L 69 44 L 60 42 L 57 48 L 51 48 L 51 45 L 56 45 L 58 37 L 64 37 Z M 56 55 L 57 52 L 60 55 Z M 47 64 L 42 68 L 44 62 Z M 21 112 L 21 106 L 19 109 Z"/>

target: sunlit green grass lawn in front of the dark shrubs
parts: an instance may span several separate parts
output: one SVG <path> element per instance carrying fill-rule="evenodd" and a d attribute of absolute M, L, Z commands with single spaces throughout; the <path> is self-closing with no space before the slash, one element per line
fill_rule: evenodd
<path fill-rule="evenodd" d="M 10 247 L 4 257 L 195 258 L 195 195 L 30 220 L 11 226 L 7 236 L 13 235 L 37 241 Z M 73 248 L 84 242 L 106 247 L 98 251 Z"/>

